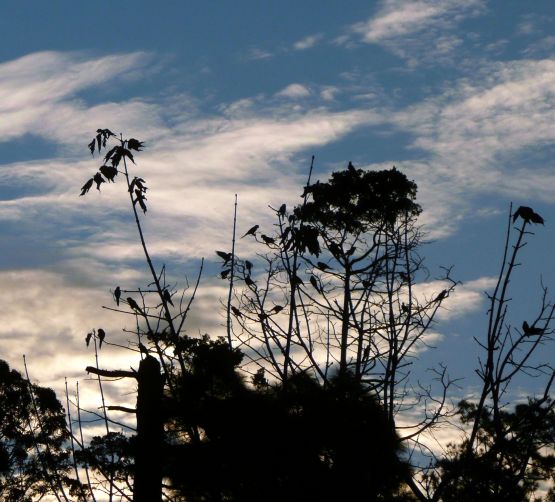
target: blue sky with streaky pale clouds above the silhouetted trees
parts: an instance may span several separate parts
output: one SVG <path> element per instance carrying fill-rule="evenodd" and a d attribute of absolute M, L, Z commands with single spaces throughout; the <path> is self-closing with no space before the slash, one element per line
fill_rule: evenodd
<path fill-rule="evenodd" d="M 145 142 L 156 264 L 183 286 L 206 259 L 190 334 L 223 332 L 214 250 L 230 246 L 235 194 L 239 230 L 271 230 L 268 206 L 299 203 L 312 155 L 321 180 L 348 161 L 395 165 L 419 187 L 422 288 L 440 266 L 461 281 L 422 365 L 446 363 L 471 393 L 511 202 L 545 226 L 508 322 L 536 316 L 541 281 L 555 287 L 554 23 L 551 0 L 4 0 L 0 358 L 22 369 L 25 354 L 60 391 L 64 377 L 87 385 L 88 331 L 128 338 L 129 319 L 102 308 L 147 277 L 123 184 L 79 197 L 98 168 L 87 143 L 109 128 Z M 122 352 L 101 365 L 129 367 Z"/>

